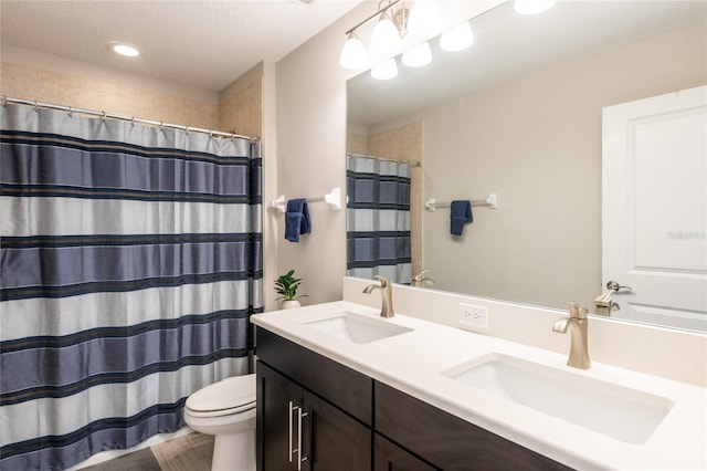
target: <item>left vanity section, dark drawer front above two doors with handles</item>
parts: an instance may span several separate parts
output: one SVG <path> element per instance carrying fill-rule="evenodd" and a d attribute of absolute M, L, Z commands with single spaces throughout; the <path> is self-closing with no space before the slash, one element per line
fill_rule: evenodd
<path fill-rule="evenodd" d="M 257 335 L 258 471 L 370 470 L 372 379 L 272 333 Z"/>

